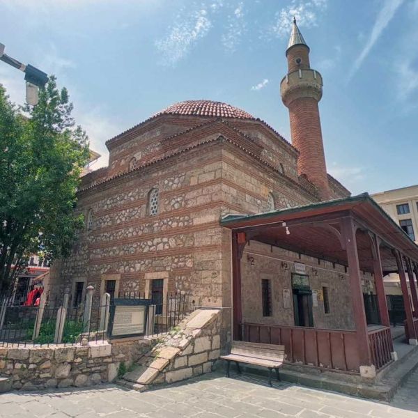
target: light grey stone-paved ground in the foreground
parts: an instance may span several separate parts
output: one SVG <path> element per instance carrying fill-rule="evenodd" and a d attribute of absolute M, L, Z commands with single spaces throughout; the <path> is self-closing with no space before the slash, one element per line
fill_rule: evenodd
<path fill-rule="evenodd" d="M 115 385 L 0 395 L 0 417 L 16 418 L 418 418 L 418 372 L 390 405 L 217 373 L 139 393 Z"/>

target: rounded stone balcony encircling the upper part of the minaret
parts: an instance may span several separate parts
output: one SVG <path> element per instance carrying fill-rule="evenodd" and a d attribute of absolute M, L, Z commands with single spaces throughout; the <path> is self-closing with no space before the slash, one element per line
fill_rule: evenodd
<path fill-rule="evenodd" d="M 280 83 L 281 100 L 287 107 L 298 98 L 314 98 L 319 102 L 322 93 L 322 76 L 312 69 L 289 72 Z"/>

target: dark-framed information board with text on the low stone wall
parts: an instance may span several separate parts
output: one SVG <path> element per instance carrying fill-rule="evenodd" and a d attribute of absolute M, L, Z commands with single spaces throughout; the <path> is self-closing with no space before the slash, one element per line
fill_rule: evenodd
<path fill-rule="evenodd" d="M 109 338 L 145 334 L 148 299 L 114 299 L 110 307 Z"/>

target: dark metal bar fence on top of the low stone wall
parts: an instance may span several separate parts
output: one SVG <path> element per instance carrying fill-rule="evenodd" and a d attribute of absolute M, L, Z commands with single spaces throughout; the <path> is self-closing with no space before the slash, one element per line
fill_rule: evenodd
<path fill-rule="evenodd" d="M 144 299 L 141 293 L 119 294 L 123 299 Z M 144 336 L 164 334 L 176 327 L 186 314 L 186 296 L 174 292 L 163 303 L 148 305 Z M 93 301 L 93 289 L 77 307 L 63 295 L 61 303 L 50 303 L 42 294 L 38 307 L 13 304 L 10 297 L 0 300 L 0 346 L 74 345 L 86 341 L 104 341 L 109 336 L 109 316 L 113 298 L 104 293 Z M 84 340 L 84 341 L 83 341 Z"/>

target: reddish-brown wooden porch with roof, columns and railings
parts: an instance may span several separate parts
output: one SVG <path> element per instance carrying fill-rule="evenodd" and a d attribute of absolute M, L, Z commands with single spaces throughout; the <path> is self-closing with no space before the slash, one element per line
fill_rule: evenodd
<path fill-rule="evenodd" d="M 368 194 L 259 215 L 229 215 L 222 219 L 222 225 L 231 229 L 232 237 L 233 339 L 284 345 L 289 363 L 374 378 L 396 359 L 382 277 L 387 272 L 398 272 L 406 334 L 409 343 L 417 345 L 418 297 L 413 273 L 418 275 L 418 247 Z M 241 258 L 249 240 L 345 266 L 355 329 L 243 320 Z M 362 271 L 373 274 L 380 325 L 370 327 L 366 323 Z"/>

